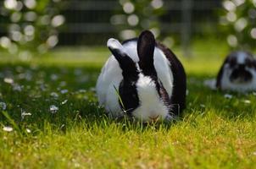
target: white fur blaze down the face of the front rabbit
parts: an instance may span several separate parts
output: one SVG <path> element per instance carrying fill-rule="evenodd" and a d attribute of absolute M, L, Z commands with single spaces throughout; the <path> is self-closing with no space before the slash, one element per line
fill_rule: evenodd
<path fill-rule="evenodd" d="M 139 74 L 136 89 L 140 99 L 140 106 L 134 110 L 133 116 L 142 121 L 152 121 L 155 118 L 164 120 L 168 116 L 168 108 L 160 100 L 152 79 Z"/>

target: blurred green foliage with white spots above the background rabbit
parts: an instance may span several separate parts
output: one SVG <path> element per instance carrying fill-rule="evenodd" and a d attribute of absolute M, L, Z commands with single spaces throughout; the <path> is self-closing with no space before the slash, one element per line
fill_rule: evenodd
<path fill-rule="evenodd" d="M 220 24 L 231 48 L 254 49 L 256 44 L 256 1 L 225 0 Z"/>

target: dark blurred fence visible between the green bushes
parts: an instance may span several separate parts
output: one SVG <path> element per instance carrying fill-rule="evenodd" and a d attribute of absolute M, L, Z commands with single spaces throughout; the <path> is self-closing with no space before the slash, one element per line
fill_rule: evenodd
<path fill-rule="evenodd" d="M 217 31 L 220 0 L 164 1 L 166 13 L 160 18 L 160 30 L 173 35 L 186 46 L 192 35 L 209 35 Z M 119 1 L 75 0 L 64 10 L 66 25 L 60 33 L 60 45 L 103 45 L 118 29 L 110 24 L 111 16 L 121 10 Z"/>

